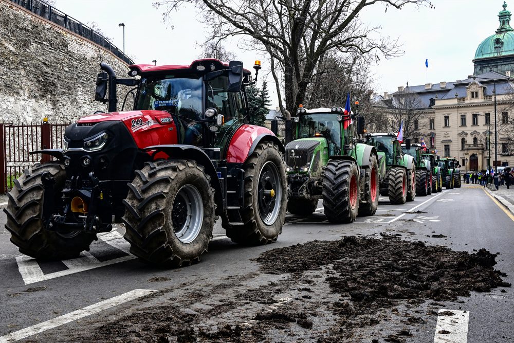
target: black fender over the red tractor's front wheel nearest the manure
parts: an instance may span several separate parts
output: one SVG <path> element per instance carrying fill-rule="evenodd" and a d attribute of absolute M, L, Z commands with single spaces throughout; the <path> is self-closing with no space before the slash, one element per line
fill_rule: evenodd
<path fill-rule="evenodd" d="M 143 150 L 154 151 L 152 156 L 155 156 L 158 152 L 163 152 L 169 156 L 169 159 L 192 159 L 204 166 L 204 172 L 211 177 L 211 186 L 214 188 L 214 202 L 217 205 L 215 214 L 221 215 L 223 213 L 223 195 L 218 173 L 210 157 L 203 150 L 185 144 L 151 146 Z"/>

